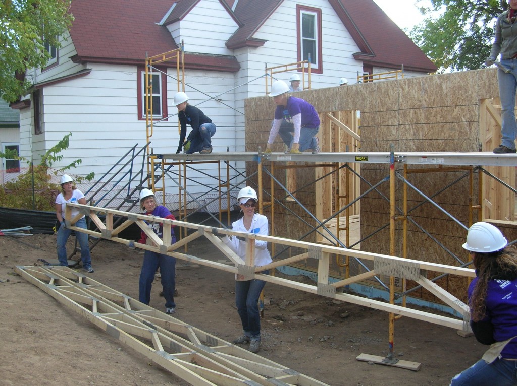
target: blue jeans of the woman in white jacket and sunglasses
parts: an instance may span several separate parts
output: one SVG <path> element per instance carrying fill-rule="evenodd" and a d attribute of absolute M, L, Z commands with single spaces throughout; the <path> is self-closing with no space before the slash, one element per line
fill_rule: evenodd
<path fill-rule="evenodd" d="M 268 274 L 269 270 L 261 272 Z M 235 282 L 235 305 L 240 316 L 242 330 L 246 336 L 260 341 L 260 313 L 258 298 L 266 285 L 264 280 L 244 280 Z"/>

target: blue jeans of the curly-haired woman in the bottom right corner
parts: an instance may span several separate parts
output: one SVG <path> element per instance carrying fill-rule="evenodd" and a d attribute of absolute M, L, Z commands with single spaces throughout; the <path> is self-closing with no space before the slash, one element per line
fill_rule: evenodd
<path fill-rule="evenodd" d="M 477 361 L 452 378 L 450 386 L 512 386 L 517 384 L 517 361 L 496 359 L 493 363 Z"/>

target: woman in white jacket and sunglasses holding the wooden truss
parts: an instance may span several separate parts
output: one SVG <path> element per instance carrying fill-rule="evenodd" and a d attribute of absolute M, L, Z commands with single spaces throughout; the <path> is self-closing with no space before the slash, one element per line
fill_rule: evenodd
<path fill-rule="evenodd" d="M 241 189 L 237 196 L 240 209 L 244 214 L 233 223 L 233 231 L 267 235 L 269 223 L 266 216 L 255 213 L 257 194 L 249 186 Z M 246 256 L 246 239 L 244 237 L 223 237 L 224 244 L 229 246 L 241 258 Z M 255 240 L 255 267 L 271 263 L 271 255 L 267 250 L 267 242 Z M 262 273 L 268 274 L 269 270 Z M 250 342 L 249 350 L 257 352 L 261 344 L 260 313 L 258 311 L 258 298 L 266 284 L 263 280 L 241 280 L 237 275 L 235 282 L 235 304 L 242 322 L 244 331 L 233 343 Z M 239 280 L 240 279 L 240 280 Z"/>

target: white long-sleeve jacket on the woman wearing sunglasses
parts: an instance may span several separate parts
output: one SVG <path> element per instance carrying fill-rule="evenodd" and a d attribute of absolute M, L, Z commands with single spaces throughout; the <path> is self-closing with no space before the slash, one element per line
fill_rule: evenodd
<path fill-rule="evenodd" d="M 232 224 L 233 231 L 254 233 L 267 235 L 269 233 L 269 222 L 266 216 L 255 213 L 251 220 L 251 228 L 246 229 L 244 226 L 244 217 L 238 219 Z M 232 249 L 241 258 L 246 257 L 246 242 L 237 239 L 233 236 L 232 238 L 226 236 L 222 238 L 222 242 Z M 255 267 L 261 267 L 263 265 L 271 263 L 271 255 L 267 250 L 267 242 L 262 240 L 255 240 Z"/>

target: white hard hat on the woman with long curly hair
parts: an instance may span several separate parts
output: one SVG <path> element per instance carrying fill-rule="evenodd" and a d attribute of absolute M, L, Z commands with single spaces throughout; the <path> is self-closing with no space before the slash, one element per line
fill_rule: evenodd
<path fill-rule="evenodd" d="M 508 245 L 503 233 L 488 222 L 479 221 L 468 229 L 467 242 L 462 245 L 467 251 L 496 252 Z"/>

